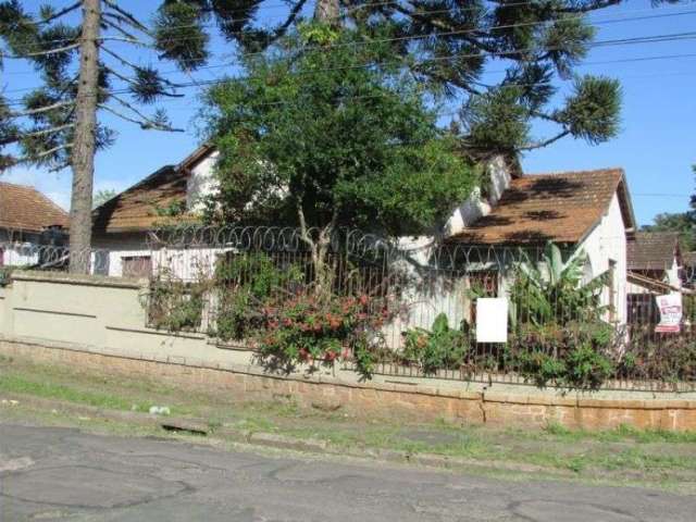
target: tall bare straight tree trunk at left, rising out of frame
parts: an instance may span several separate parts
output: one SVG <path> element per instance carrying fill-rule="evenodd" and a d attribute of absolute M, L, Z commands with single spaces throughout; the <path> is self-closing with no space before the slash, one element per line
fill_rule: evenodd
<path fill-rule="evenodd" d="M 70 208 L 70 272 L 87 274 L 90 268 L 91 192 L 95 175 L 97 95 L 99 89 L 99 24 L 101 0 L 83 0 L 79 45 L 79 84 L 75 105 L 72 151 L 73 191 Z"/>

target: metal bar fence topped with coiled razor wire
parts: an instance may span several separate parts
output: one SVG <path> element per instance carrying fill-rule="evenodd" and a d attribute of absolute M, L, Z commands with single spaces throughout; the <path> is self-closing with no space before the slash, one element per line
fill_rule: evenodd
<path fill-rule="evenodd" d="M 696 388 L 693 273 L 670 263 L 629 271 L 625 239 L 580 252 L 340 231 L 320 266 L 307 240 L 319 231 L 185 227 L 147 237 L 84 256 L 95 274 L 150 278 L 149 326 L 202 332 L 221 347 L 259 349 L 271 323 L 295 321 L 320 328 L 312 338 L 338 339 L 343 366 L 358 369 L 353 337 L 332 332 L 334 323 L 346 327 L 331 316 L 344 307 L 356 327 L 370 330 L 372 373 L 394 378 Z M 65 270 L 70 259 L 55 246 L 5 243 L 0 253 L 5 266 L 40 270 Z M 320 293 L 331 303 L 301 301 Z M 683 319 L 679 332 L 661 333 L 656 297 L 673 293 Z M 506 298 L 505 343 L 478 338 L 483 298 Z M 277 312 L 293 307 L 304 315 Z"/>

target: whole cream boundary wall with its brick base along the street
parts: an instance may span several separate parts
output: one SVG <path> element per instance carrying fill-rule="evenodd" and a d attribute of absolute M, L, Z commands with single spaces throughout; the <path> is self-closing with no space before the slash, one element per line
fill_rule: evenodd
<path fill-rule="evenodd" d="M 232 400 L 291 398 L 360 415 L 527 427 L 696 430 L 694 393 L 562 393 L 388 376 L 360 382 L 355 372 L 337 369 L 270 374 L 253 364 L 249 351 L 220 349 L 199 334 L 172 336 L 145 327 L 142 285 L 21 273 L 11 287 L 0 289 L 0 355 L 216 388 L 229 391 Z"/>

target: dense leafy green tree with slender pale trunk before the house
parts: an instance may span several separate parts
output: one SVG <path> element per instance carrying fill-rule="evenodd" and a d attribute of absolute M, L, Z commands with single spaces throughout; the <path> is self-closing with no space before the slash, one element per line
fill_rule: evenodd
<path fill-rule="evenodd" d="M 296 224 L 320 287 L 336 231 L 432 231 L 476 181 L 422 87 L 389 65 L 391 48 L 356 46 L 361 37 L 304 26 L 206 96 L 220 151 L 209 219 Z"/>

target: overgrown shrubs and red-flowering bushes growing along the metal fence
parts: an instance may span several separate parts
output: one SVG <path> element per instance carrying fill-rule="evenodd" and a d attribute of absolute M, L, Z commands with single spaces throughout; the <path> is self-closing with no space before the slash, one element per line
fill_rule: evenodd
<path fill-rule="evenodd" d="M 388 348 L 385 326 L 391 328 L 408 304 L 399 304 L 398 277 L 373 277 L 365 266 L 345 261 L 332 291 L 316 294 L 307 251 L 227 252 L 212 275 L 196 282 L 160 275 L 151 283 L 148 316 L 158 328 L 207 328 L 221 344 L 240 343 L 273 371 L 313 371 L 348 360 L 364 378 L 385 363 L 435 376 L 517 374 L 539 387 L 576 389 L 597 389 L 612 378 L 696 378 L 691 336 L 619 332 L 600 299 L 610 277 L 586 281 L 585 263 L 582 253 L 564 261 L 555 245 L 538 260 L 520 252 L 506 275 L 511 304 L 505 345 L 476 343 L 473 324 L 462 320 L 452 326 L 453 318 L 440 313 L 430 328 L 402 332 L 400 349 Z M 474 301 L 482 295 L 468 290 Z M 206 310 L 211 319 L 203 324 Z"/>

